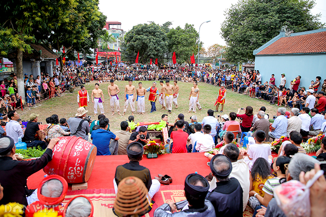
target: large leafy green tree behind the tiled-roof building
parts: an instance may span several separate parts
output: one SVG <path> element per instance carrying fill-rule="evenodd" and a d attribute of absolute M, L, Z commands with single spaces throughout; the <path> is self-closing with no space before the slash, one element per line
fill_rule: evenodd
<path fill-rule="evenodd" d="M 226 11 L 222 37 L 229 62 L 254 61 L 253 50 L 279 34 L 282 26 L 296 32 L 323 28 L 310 10 L 314 0 L 243 0 Z"/>

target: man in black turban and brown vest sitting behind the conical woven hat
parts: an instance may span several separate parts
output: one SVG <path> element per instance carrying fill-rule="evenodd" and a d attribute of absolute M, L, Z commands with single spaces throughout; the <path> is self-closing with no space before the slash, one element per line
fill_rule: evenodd
<path fill-rule="evenodd" d="M 132 142 L 127 146 L 127 155 L 129 163 L 119 165 L 115 169 L 115 175 L 113 179 L 115 193 L 118 192 L 118 184 L 122 179 L 128 176 L 135 176 L 140 178 L 147 190 L 150 198 L 153 198 L 156 192 L 158 192 L 160 183 L 156 179 L 151 179 L 149 169 L 139 165 L 143 156 L 143 146 L 139 142 Z"/>

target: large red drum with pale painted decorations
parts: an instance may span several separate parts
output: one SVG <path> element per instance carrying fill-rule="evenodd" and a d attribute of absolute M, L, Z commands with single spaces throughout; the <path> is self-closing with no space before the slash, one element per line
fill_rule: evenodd
<path fill-rule="evenodd" d="M 60 137 L 53 148 L 52 160 L 44 167 L 48 175 L 60 175 L 68 183 L 88 181 L 95 162 L 97 148 L 76 136 Z"/>

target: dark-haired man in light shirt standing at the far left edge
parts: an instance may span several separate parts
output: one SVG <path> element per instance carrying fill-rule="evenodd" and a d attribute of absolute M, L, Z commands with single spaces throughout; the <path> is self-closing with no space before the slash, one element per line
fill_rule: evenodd
<path fill-rule="evenodd" d="M 18 137 L 24 137 L 22 126 L 18 123 L 19 114 L 16 111 L 8 112 L 9 122 L 6 124 L 7 136 L 14 139 L 15 144 L 18 142 Z"/>

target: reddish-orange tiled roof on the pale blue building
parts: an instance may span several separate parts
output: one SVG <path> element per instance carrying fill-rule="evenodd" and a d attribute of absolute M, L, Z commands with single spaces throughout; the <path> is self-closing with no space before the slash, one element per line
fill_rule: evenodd
<path fill-rule="evenodd" d="M 278 39 L 256 55 L 326 53 L 326 31 Z"/>

